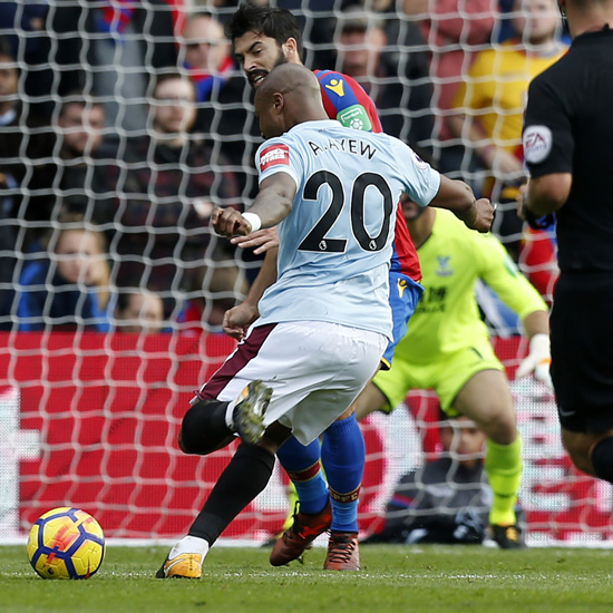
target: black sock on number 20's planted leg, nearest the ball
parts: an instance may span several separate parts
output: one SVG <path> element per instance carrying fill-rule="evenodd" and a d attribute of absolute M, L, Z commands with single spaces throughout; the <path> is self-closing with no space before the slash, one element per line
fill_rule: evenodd
<path fill-rule="evenodd" d="M 266 487 L 273 468 L 274 454 L 241 444 L 192 524 L 189 536 L 213 545 L 232 519 Z"/>

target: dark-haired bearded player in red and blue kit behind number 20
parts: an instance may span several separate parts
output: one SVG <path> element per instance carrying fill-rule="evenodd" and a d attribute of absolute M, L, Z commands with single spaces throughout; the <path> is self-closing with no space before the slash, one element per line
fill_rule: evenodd
<path fill-rule="evenodd" d="M 257 88 L 279 64 L 302 64 L 302 33 L 296 20 L 286 10 L 241 4 L 226 27 L 234 52 L 249 79 Z M 317 70 L 323 106 L 328 116 L 342 125 L 367 132 L 381 132 L 373 101 L 351 78 L 340 72 Z M 396 343 L 407 331 L 407 321 L 421 295 L 419 261 L 402 223 L 397 224 L 390 269 L 390 304 L 393 314 L 393 340 L 388 346 L 382 368 L 389 368 Z M 251 243 L 243 243 L 249 246 Z M 266 254 L 262 271 L 247 300 L 232 310 L 226 323 L 235 335 L 257 317 L 257 300 L 274 282 L 274 253 Z M 226 328 L 227 330 L 227 328 Z M 313 441 L 306 449 L 290 439 L 279 451 L 283 468 L 295 485 L 300 513 L 271 553 L 271 564 L 281 565 L 298 558 L 311 542 L 331 527 L 327 567 L 357 570 L 358 495 L 366 460 L 362 432 L 350 407 L 323 436 L 322 445 Z M 328 483 L 321 474 L 325 468 Z M 348 541 L 349 535 L 349 541 Z"/>

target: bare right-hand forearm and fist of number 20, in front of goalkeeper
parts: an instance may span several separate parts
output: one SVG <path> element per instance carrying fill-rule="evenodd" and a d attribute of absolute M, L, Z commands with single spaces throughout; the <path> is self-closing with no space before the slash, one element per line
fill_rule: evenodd
<path fill-rule="evenodd" d="M 494 207 L 487 198 L 475 198 L 473 189 L 463 181 L 440 177 L 440 187 L 430 206 L 448 208 L 469 228 L 489 232 L 494 221 Z"/>

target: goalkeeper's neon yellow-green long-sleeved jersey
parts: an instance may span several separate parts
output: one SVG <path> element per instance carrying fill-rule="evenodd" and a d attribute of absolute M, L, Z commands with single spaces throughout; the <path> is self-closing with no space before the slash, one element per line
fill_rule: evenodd
<path fill-rule="evenodd" d="M 522 320 L 547 310 L 498 239 L 469 230 L 449 211 L 436 210 L 432 233 L 418 254 L 425 292 L 396 348 L 397 360 L 424 364 L 487 339 L 475 296 L 478 279 Z"/>

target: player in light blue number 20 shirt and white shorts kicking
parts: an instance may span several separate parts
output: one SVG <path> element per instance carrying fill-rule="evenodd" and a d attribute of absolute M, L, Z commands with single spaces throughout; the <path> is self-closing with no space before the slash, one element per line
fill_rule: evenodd
<path fill-rule="evenodd" d="M 257 150 L 260 192 L 249 213 L 216 208 L 212 222 L 225 236 L 279 224 L 278 281 L 183 420 L 187 454 L 210 454 L 236 435 L 242 442 L 159 578 L 200 577 L 211 545 L 266 486 L 283 441 L 313 441 L 376 372 L 391 338 L 388 272 L 400 193 L 450 208 L 483 232 L 493 220 L 488 201 L 475 201 L 401 142 L 330 120 L 317 77 L 302 66 L 275 68 L 255 110 L 264 137 L 280 136 Z"/>

